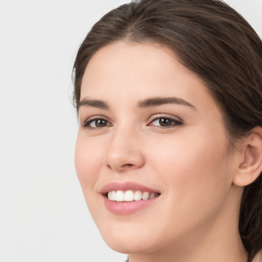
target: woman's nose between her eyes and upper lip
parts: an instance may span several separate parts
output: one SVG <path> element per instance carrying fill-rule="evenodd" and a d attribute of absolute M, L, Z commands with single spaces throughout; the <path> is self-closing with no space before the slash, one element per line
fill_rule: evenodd
<path fill-rule="evenodd" d="M 109 142 L 104 164 L 115 171 L 122 172 L 140 168 L 144 165 L 142 145 L 139 135 L 125 128 L 117 130 Z"/>

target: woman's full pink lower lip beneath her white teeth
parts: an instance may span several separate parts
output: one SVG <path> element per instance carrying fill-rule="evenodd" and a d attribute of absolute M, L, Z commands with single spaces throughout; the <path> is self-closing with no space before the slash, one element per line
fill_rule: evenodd
<path fill-rule="evenodd" d="M 117 202 L 108 200 L 106 196 L 104 198 L 104 205 L 108 211 L 117 215 L 128 215 L 133 214 L 148 205 L 152 204 L 157 198 L 148 200 L 130 201 L 130 202 Z"/>

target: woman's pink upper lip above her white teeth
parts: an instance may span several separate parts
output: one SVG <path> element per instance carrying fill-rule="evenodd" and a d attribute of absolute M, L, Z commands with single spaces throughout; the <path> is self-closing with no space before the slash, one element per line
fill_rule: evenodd
<path fill-rule="evenodd" d="M 122 191 L 126 191 L 126 190 L 140 190 L 143 192 L 149 192 L 149 193 L 160 193 L 159 191 L 149 188 L 147 186 L 144 186 L 142 184 L 138 184 L 135 182 L 112 182 L 112 183 L 108 183 L 105 186 L 103 186 L 103 188 L 101 189 L 101 194 L 106 194 L 109 191 L 113 191 L 113 190 L 122 190 Z"/>

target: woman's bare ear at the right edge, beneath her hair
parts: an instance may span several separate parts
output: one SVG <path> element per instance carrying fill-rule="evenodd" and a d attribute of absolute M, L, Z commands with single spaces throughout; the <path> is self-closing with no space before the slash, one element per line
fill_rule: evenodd
<path fill-rule="evenodd" d="M 247 186 L 254 182 L 262 171 L 262 128 L 257 126 L 244 141 L 242 160 L 234 174 L 233 184 Z"/>

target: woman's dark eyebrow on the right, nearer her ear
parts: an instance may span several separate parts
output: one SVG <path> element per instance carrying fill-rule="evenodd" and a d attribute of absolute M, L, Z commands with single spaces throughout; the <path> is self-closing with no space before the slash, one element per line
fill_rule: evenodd
<path fill-rule="evenodd" d="M 162 104 L 180 104 L 192 107 L 194 110 L 197 110 L 192 104 L 187 102 L 186 100 L 178 97 L 151 97 L 145 100 L 140 100 L 137 103 L 138 107 L 146 108 L 151 106 L 158 106 Z"/>

